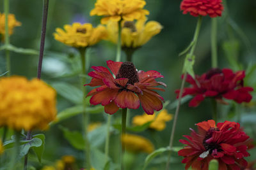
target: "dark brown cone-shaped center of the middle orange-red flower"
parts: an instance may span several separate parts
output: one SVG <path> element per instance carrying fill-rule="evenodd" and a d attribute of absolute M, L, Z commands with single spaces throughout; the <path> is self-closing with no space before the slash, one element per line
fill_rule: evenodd
<path fill-rule="evenodd" d="M 121 65 L 116 75 L 116 78 L 128 78 L 129 80 L 127 83 L 131 85 L 134 85 L 134 83 L 139 82 L 138 72 L 134 67 L 133 63 L 129 61 L 125 61 Z"/>

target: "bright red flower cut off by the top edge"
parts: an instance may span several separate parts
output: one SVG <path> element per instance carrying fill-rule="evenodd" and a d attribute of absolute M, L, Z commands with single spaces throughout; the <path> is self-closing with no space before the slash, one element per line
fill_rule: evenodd
<path fill-rule="evenodd" d="M 183 0 L 180 10 L 183 14 L 190 13 L 194 17 L 209 15 L 210 17 L 221 16 L 223 11 L 222 0 Z"/>

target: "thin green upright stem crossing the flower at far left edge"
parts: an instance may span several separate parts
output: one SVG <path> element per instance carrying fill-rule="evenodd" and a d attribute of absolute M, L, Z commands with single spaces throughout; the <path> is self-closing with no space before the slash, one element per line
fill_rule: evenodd
<path fill-rule="evenodd" d="M 8 28 L 9 6 L 10 6 L 9 0 L 4 0 L 4 15 L 5 15 L 4 45 L 6 45 L 6 46 L 10 45 L 10 35 L 9 35 L 9 28 Z M 10 76 L 11 75 L 10 51 L 9 50 L 5 50 L 5 55 L 6 55 L 6 71 L 8 71 L 8 73 L 6 75 Z"/>

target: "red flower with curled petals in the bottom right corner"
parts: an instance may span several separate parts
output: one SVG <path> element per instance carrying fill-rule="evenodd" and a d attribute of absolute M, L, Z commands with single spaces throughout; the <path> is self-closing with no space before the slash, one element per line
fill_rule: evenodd
<path fill-rule="evenodd" d="M 191 135 L 184 135 L 188 141 L 179 140 L 187 145 L 178 152 L 184 157 L 182 163 L 186 164 L 186 169 L 192 166 L 196 170 L 208 170 L 212 159 L 218 160 L 219 170 L 240 170 L 247 166 L 243 157 L 250 156 L 246 152 L 249 136 L 238 123 L 225 121 L 216 126 L 214 120 L 208 120 L 196 125 L 198 133 L 190 129 Z"/>

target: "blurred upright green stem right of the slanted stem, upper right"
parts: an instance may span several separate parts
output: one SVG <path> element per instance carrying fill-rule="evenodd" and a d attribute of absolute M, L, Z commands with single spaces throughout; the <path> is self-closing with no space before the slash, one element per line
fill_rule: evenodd
<path fill-rule="evenodd" d="M 212 56 L 212 68 L 218 67 L 218 55 L 217 55 L 217 18 L 212 18 L 211 28 L 211 56 Z"/>

